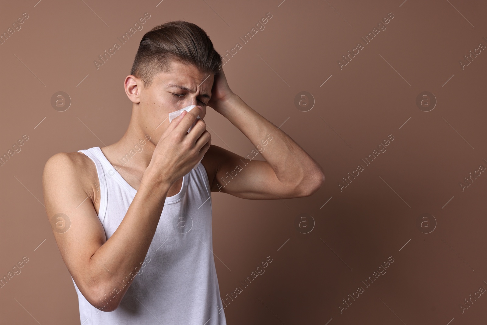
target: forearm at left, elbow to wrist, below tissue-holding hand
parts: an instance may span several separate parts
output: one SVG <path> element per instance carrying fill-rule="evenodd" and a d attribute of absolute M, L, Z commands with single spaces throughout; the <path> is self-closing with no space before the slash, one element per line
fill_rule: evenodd
<path fill-rule="evenodd" d="M 91 258 L 90 273 L 102 310 L 118 306 L 147 255 L 164 208 L 169 184 L 144 174 L 125 217 Z M 118 288 L 118 289 L 116 289 Z M 113 297 L 114 296 L 114 297 Z M 98 302 L 96 302 L 98 303 Z M 105 306 L 105 304 L 107 306 Z"/>

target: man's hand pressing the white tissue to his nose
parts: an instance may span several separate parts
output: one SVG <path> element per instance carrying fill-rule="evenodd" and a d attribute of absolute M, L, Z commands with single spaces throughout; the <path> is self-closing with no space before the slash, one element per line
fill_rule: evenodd
<path fill-rule="evenodd" d="M 211 135 L 206 123 L 197 116 L 201 108 L 193 107 L 175 117 L 152 153 L 146 172 L 154 175 L 153 180 L 171 186 L 198 164 L 211 144 Z M 187 130 L 194 123 L 189 132 Z"/>

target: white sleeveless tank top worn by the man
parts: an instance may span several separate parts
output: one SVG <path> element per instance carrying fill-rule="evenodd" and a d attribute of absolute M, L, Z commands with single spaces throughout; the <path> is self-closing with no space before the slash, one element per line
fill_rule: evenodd
<path fill-rule="evenodd" d="M 108 240 L 137 191 L 115 171 L 100 147 L 78 152 L 90 157 L 96 166 L 100 182 L 98 218 Z M 71 277 L 81 324 L 226 325 L 212 253 L 211 211 L 208 177 L 200 162 L 183 176 L 181 191 L 166 197 L 144 263 L 137 268 L 117 309 L 106 312 L 92 306 Z M 107 292 L 104 300 L 110 301 L 116 292 Z"/>

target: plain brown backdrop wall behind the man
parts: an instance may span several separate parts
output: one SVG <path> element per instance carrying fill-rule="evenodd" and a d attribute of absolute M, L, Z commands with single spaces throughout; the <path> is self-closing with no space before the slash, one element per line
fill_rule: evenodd
<path fill-rule="evenodd" d="M 131 102 L 123 80 L 143 34 L 184 19 L 201 26 L 224 54 L 243 45 L 239 37 L 268 12 L 272 19 L 228 61 L 225 74 L 257 112 L 277 126 L 286 121 L 281 129 L 319 162 L 326 181 L 311 197 L 283 201 L 213 193 L 222 298 L 273 258 L 225 308 L 227 323 L 457 325 L 486 319 L 485 294 L 463 314 L 460 304 L 487 288 L 487 175 L 463 192 L 459 185 L 480 164 L 487 166 L 487 54 L 464 70 L 459 64 L 487 44 L 484 1 L 36 3 L 4 1 L 0 12 L 1 33 L 29 14 L 0 45 L 0 153 L 29 136 L 0 167 L 0 276 L 29 258 L 0 289 L 2 324 L 80 323 L 75 288 L 42 206 L 41 174 L 53 154 L 112 144 L 125 132 Z M 146 12 L 151 18 L 144 29 L 96 70 L 98 55 Z M 337 60 L 390 12 L 387 29 L 340 70 Z M 65 112 L 51 107 L 57 91 L 72 99 Z M 316 100 L 308 112 L 294 106 L 300 91 Z M 436 96 L 430 112 L 415 104 L 423 91 Z M 222 115 L 208 109 L 205 119 L 213 144 L 241 155 L 253 149 Z M 389 134 L 394 140 L 387 151 L 340 192 L 342 177 Z M 294 226 L 300 213 L 316 221 L 307 234 Z M 436 219 L 429 234 L 416 226 L 421 213 Z M 361 281 L 389 256 L 394 262 L 387 273 L 365 288 Z M 342 299 L 359 286 L 365 292 L 340 314 Z"/>

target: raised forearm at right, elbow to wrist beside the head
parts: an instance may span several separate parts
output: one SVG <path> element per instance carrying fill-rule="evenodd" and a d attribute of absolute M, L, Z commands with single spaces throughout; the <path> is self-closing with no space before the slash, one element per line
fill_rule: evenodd
<path fill-rule="evenodd" d="M 252 142 L 282 183 L 318 182 L 313 179 L 317 173 L 322 173 L 318 163 L 289 135 L 253 110 L 239 96 L 230 96 L 216 110 Z M 268 134 L 272 136 L 271 141 L 265 141 Z M 265 147 L 263 143 L 266 143 Z"/>

